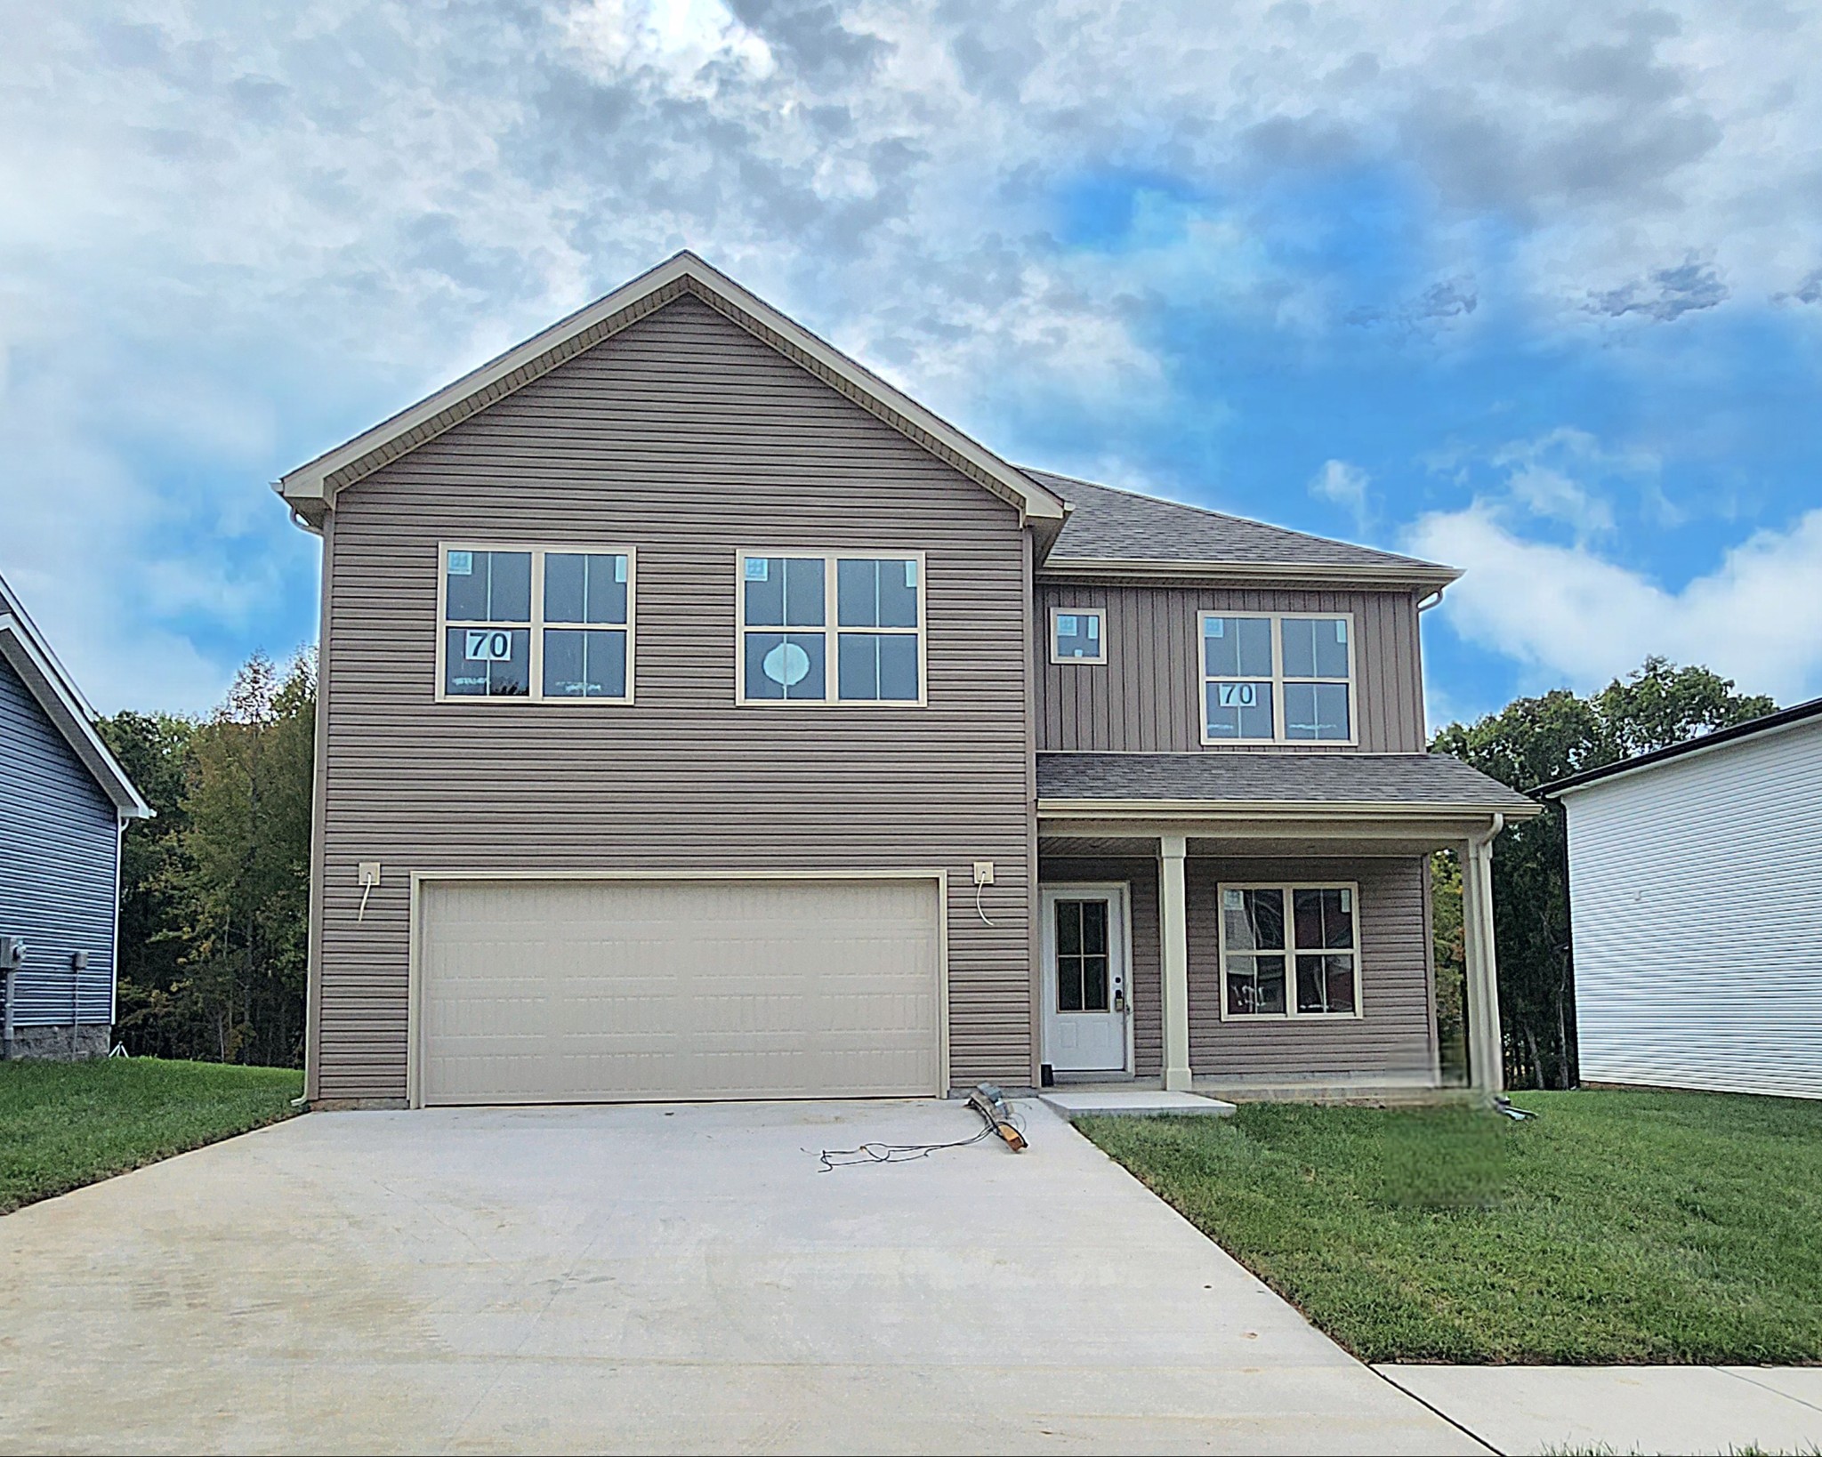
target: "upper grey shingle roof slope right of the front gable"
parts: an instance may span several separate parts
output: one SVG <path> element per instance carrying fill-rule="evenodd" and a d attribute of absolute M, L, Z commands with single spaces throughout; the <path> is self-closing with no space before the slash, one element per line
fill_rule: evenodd
<path fill-rule="evenodd" d="M 1352 541 L 1306 535 L 1285 526 L 1270 526 L 1264 521 L 1248 521 L 1244 515 L 1159 501 L 1155 495 L 1135 495 L 1130 490 L 1097 486 L 1093 481 L 1075 481 L 1068 475 L 1051 475 L 1046 470 L 1026 470 L 1024 474 L 1075 506 L 1051 552 L 1055 559 L 1377 566 L 1390 576 L 1412 568 L 1428 574 L 1439 570 L 1436 563 L 1418 557 L 1356 546 Z"/>

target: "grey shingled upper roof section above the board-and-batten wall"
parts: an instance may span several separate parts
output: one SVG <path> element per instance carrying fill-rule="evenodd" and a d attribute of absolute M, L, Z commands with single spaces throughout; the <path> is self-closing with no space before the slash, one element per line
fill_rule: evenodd
<path fill-rule="evenodd" d="M 1070 521 L 1044 563 L 1046 572 L 1059 576 L 1219 576 L 1428 588 L 1443 588 L 1461 576 L 1454 566 L 1434 561 L 1306 535 L 1048 470 L 1028 468 L 1026 475 L 1070 503 Z"/>

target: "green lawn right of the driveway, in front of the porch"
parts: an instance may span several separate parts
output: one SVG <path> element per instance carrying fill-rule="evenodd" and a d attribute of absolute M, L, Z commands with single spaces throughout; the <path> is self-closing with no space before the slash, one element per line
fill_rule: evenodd
<path fill-rule="evenodd" d="M 1080 1129 L 1366 1360 L 1822 1360 L 1822 1104 L 1514 1100 Z"/>

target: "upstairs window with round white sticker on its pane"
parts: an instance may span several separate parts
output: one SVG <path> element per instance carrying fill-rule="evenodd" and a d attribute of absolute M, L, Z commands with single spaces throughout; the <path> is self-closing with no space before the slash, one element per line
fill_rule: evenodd
<path fill-rule="evenodd" d="M 742 552 L 740 703 L 924 703 L 924 557 Z"/>

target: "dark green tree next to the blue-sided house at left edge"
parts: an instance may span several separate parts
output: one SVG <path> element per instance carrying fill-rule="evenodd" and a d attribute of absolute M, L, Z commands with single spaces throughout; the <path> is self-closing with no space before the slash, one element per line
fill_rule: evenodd
<path fill-rule="evenodd" d="M 98 721 L 151 820 L 133 820 L 120 845 L 120 951 L 115 1031 L 135 1056 L 189 1056 L 182 1018 L 184 942 L 179 867 L 189 823 L 184 789 L 197 725 L 173 714 L 120 712 Z"/>

